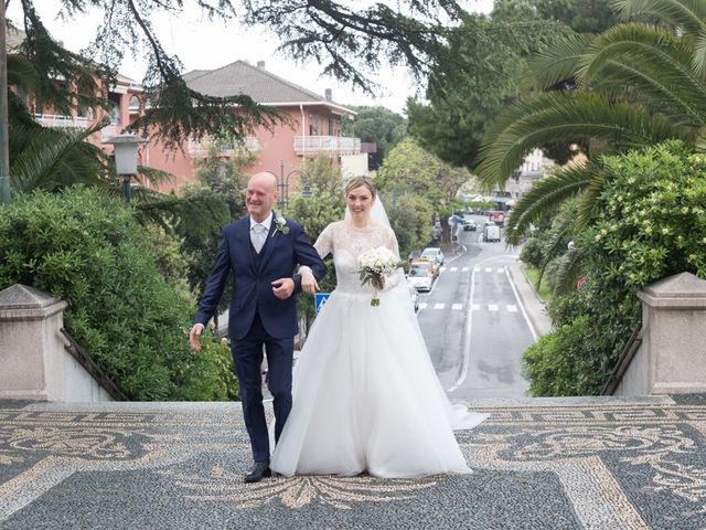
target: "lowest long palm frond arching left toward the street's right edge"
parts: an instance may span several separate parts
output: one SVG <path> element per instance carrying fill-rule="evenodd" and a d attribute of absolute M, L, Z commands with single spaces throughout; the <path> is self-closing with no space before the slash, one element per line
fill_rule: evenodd
<path fill-rule="evenodd" d="M 599 167 L 593 163 L 570 166 L 535 182 L 510 212 L 505 229 L 507 243 L 515 244 L 527 233 L 530 225 L 538 224 L 561 202 L 580 193 L 589 186 L 597 171 Z"/>

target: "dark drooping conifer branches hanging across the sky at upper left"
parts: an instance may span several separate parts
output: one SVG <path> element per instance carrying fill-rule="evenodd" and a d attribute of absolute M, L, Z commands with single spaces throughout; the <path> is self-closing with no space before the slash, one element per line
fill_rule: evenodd
<path fill-rule="evenodd" d="M 324 73 L 370 92 L 374 84 L 368 74 L 385 60 L 425 72 L 443 42 L 449 19 L 458 20 L 463 13 L 454 0 L 407 0 L 398 2 L 397 9 L 383 3 L 360 9 L 354 2 L 333 0 L 60 0 L 65 18 L 78 19 L 88 9 L 105 15 L 88 46 L 92 55 L 84 59 L 66 52 L 51 36 L 42 22 L 41 2 L 18 1 L 23 13 L 18 23 L 26 32 L 23 52 L 41 80 L 43 100 L 90 104 L 97 88 L 115 80 L 125 51 L 137 47 L 148 60 L 143 86 L 149 105 L 132 126 L 147 132 L 158 125 L 168 146 L 206 135 L 244 137 L 281 117 L 243 94 L 213 97 L 189 88 L 180 75 L 179 57 L 163 47 L 153 31 L 156 15 L 179 17 L 191 3 L 211 18 L 263 24 L 281 39 L 281 50 L 292 59 L 317 61 Z M 96 84 L 96 75 L 104 83 Z M 56 78 L 65 80 L 62 93 Z"/>

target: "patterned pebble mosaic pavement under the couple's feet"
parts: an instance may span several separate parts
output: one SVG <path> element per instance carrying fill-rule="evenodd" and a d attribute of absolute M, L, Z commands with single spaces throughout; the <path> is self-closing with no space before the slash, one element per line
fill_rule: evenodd
<path fill-rule="evenodd" d="M 471 476 L 245 485 L 237 404 L 0 403 L 0 529 L 706 529 L 703 396 L 478 410 Z"/>

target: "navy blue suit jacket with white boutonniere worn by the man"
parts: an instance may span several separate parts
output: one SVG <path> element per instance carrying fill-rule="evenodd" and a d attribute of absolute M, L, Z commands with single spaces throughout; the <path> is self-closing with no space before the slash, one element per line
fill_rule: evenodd
<path fill-rule="evenodd" d="M 218 252 L 199 304 L 195 322 L 204 326 L 213 317 L 228 275 L 233 273 L 233 297 L 228 318 L 228 335 L 233 339 L 244 338 L 253 325 L 255 312 L 267 332 L 276 339 L 297 335 L 297 298 L 280 300 L 272 294 L 271 283 L 292 277 L 298 265 L 311 267 L 317 279 L 327 272 L 315 248 L 307 239 L 302 226 L 287 220 L 289 232 L 275 230 L 275 216 L 268 241 L 260 252 L 260 266 L 253 258 L 250 246 L 250 218 L 228 224 L 223 229 Z M 301 293 L 301 277 L 293 276 L 295 295 Z"/>

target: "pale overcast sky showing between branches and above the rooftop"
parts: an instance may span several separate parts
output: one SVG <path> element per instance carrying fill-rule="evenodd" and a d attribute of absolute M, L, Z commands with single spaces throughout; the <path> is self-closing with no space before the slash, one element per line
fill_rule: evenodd
<path fill-rule="evenodd" d="M 63 22 L 55 18 L 58 0 L 39 0 L 34 3 L 52 35 L 75 52 L 84 49 L 95 34 L 84 29 L 96 28 L 100 22 L 97 13 L 78 23 Z M 461 3 L 469 10 L 488 13 L 493 0 L 462 0 Z M 11 1 L 8 19 L 19 23 L 19 2 Z M 424 97 L 424 87 L 416 86 L 404 68 L 383 68 L 377 80 L 383 88 L 376 97 L 372 97 L 331 77 L 321 77 L 322 68 L 315 63 L 292 64 L 290 60 L 276 53 L 279 42 L 269 32 L 257 28 L 243 30 L 233 21 L 208 21 L 197 9 L 189 9 L 179 19 L 164 15 L 156 18 L 153 22 L 164 49 L 176 54 L 186 71 L 218 68 L 237 60 L 246 60 L 253 64 L 265 61 L 266 70 L 312 92 L 323 94 L 325 88 L 332 88 L 333 99 L 343 105 L 382 105 L 402 113 L 408 96 Z M 139 57 L 135 60 L 126 55 L 120 73 L 140 82 L 145 70 L 145 63 Z"/>

